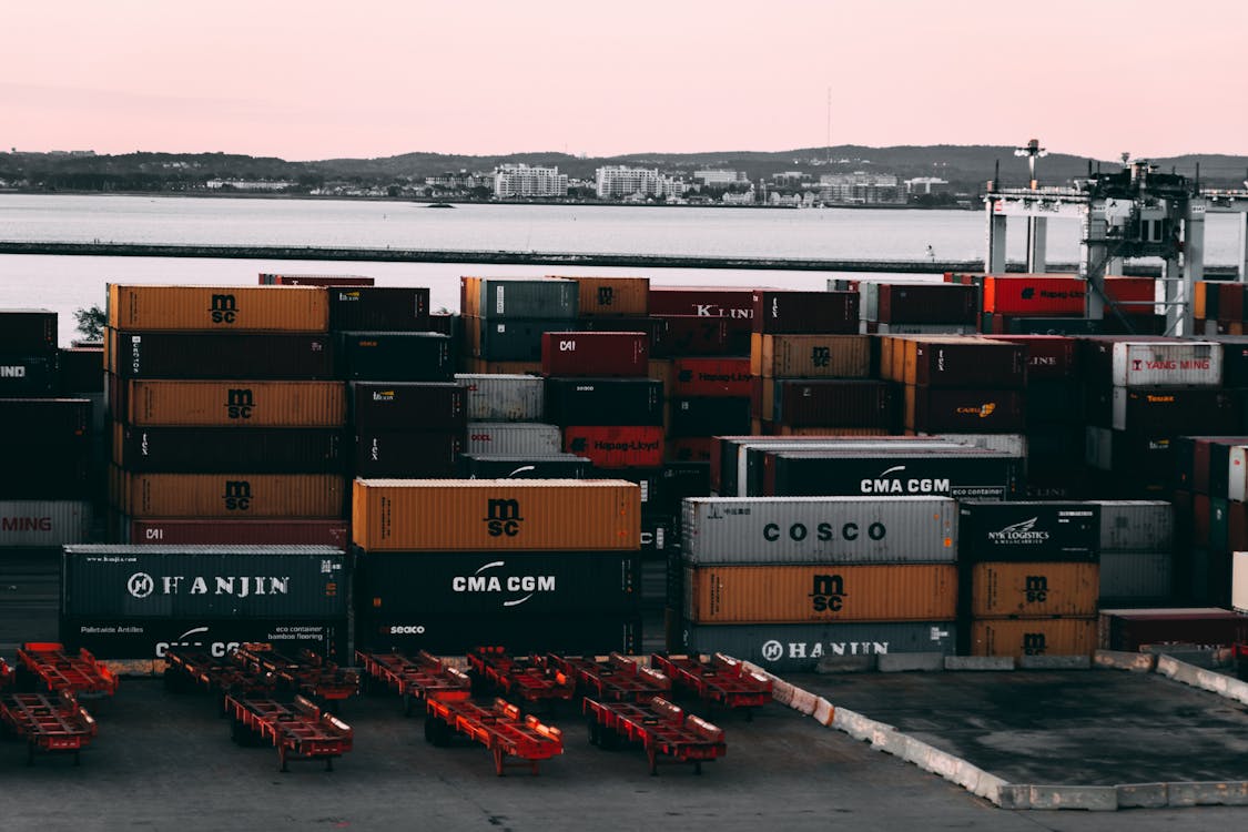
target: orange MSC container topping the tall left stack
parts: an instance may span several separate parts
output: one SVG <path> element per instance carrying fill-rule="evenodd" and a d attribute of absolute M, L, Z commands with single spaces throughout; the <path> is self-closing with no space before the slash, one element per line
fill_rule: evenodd
<path fill-rule="evenodd" d="M 329 298 L 311 286 L 109 284 L 114 329 L 328 332 Z"/>

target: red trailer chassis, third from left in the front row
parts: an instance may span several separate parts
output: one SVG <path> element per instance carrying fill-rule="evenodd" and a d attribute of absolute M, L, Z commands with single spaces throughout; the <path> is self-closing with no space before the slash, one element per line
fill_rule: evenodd
<path fill-rule="evenodd" d="M 424 701 L 424 740 L 442 747 L 451 735 L 462 733 L 485 746 L 494 757 L 494 773 L 504 768 L 527 767 L 538 773 L 538 762 L 563 753 L 563 732 L 539 722 L 533 715 L 520 717 L 520 709 L 500 699 L 494 707 L 484 709 L 468 700 Z M 510 762 L 509 758 L 514 758 Z"/>

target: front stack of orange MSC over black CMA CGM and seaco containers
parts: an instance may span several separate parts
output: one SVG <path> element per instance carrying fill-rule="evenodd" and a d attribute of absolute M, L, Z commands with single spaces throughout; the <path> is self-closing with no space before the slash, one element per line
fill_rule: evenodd
<path fill-rule="evenodd" d="M 623 480 L 356 480 L 356 646 L 639 650 L 639 491 Z"/>

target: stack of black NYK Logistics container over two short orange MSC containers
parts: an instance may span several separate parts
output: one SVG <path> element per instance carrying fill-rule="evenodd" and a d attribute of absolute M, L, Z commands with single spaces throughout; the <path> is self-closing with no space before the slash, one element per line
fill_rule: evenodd
<path fill-rule="evenodd" d="M 960 513 L 958 652 L 1092 655 L 1101 506 L 965 500 Z"/>

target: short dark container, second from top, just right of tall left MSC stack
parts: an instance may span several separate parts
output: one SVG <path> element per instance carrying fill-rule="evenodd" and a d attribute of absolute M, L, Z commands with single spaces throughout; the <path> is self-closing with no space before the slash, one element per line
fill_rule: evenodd
<path fill-rule="evenodd" d="M 436 332 L 343 332 L 339 367 L 347 380 L 449 382 L 451 339 Z"/>

